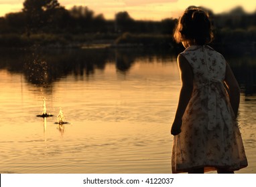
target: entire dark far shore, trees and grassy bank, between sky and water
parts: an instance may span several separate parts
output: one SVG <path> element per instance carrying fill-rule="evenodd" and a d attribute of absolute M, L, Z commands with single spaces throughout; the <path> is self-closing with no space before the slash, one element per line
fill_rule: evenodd
<path fill-rule="evenodd" d="M 256 11 L 246 13 L 241 7 L 214 15 L 212 45 L 230 51 L 253 53 L 256 43 Z M 172 40 L 177 19 L 162 21 L 133 19 L 126 11 L 107 20 L 88 7 L 65 9 L 57 0 L 25 0 L 23 9 L 0 17 L 0 47 L 170 47 L 179 49 Z"/>

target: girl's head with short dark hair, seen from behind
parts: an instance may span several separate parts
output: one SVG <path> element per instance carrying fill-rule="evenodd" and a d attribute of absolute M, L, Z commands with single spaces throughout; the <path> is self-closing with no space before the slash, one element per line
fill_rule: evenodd
<path fill-rule="evenodd" d="M 200 7 L 188 7 L 176 25 L 174 40 L 177 43 L 190 41 L 197 45 L 206 45 L 212 39 L 212 26 L 208 13 Z"/>

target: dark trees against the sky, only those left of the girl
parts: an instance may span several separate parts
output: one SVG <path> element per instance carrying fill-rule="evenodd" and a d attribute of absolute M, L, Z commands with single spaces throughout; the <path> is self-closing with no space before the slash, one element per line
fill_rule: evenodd
<path fill-rule="evenodd" d="M 74 6 L 68 10 L 57 0 L 25 0 L 22 11 L 0 18 L 0 33 L 170 33 L 175 22 L 176 19 L 135 21 L 127 11 L 107 20 L 88 7 Z"/>

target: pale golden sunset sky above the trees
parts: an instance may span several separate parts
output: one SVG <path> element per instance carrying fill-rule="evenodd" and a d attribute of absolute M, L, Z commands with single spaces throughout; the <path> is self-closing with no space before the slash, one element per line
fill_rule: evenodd
<path fill-rule="evenodd" d="M 25 0 L 0 0 L 0 16 L 21 11 Z M 227 12 L 242 6 L 245 11 L 256 11 L 256 1 L 245 0 L 58 0 L 60 5 L 70 9 L 74 5 L 87 6 L 95 14 L 103 13 L 105 19 L 114 19 L 115 13 L 127 11 L 133 19 L 161 20 L 179 17 L 190 5 L 204 6 L 214 13 Z"/>

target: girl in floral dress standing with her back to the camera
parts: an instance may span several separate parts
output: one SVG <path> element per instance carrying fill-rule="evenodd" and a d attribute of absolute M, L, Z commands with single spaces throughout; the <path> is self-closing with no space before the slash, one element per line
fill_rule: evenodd
<path fill-rule="evenodd" d="M 182 88 L 171 133 L 172 172 L 234 173 L 247 166 L 237 124 L 239 85 L 225 58 L 209 47 L 208 14 L 189 7 L 174 39 L 186 48 L 178 55 Z"/>

